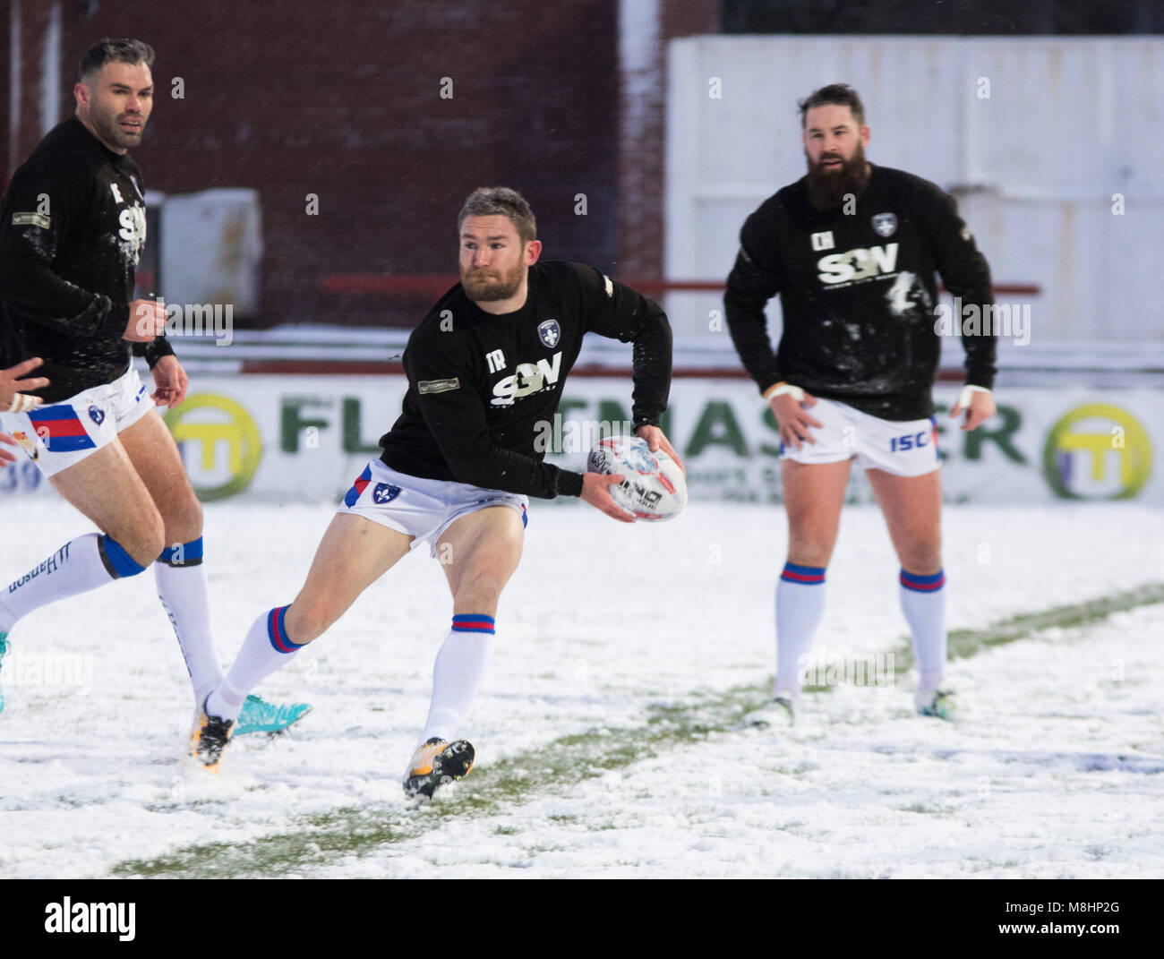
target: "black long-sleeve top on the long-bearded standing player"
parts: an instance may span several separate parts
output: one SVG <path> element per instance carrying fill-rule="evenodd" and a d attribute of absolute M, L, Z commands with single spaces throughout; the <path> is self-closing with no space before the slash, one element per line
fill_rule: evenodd
<path fill-rule="evenodd" d="M 802 178 L 744 223 L 728 327 L 761 392 L 783 381 L 882 419 L 922 419 L 934 413 L 941 360 L 935 271 L 964 306 L 991 315 L 989 267 L 937 185 L 873 165 L 846 214 L 815 209 Z M 783 333 L 773 354 L 764 307 L 776 293 Z M 996 340 L 992 329 L 963 336 L 967 383 L 993 385 Z"/>

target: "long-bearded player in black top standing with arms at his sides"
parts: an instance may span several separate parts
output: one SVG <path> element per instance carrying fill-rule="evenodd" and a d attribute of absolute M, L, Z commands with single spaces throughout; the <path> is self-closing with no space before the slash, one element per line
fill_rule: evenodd
<path fill-rule="evenodd" d="M 851 461 L 866 470 L 901 561 L 900 596 L 921 674 L 915 705 L 950 719 L 941 542 L 941 460 L 932 419 L 937 271 L 980 315 L 991 274 L 954 201 L 920 177 L 874 166 L 856 91 L 822 87 L 801 105 L 808 176 L 766 200 L 740 233 L 725 306 L 732 341 L 780 428 L 788 554 L 776 585 L 776 681 L 757 723 L 790 723 L 802 656 L 824 610 Z M 775 353 L 765 304 L 781 298 Z M 963 429 L 995 412 L 995 338 L 963 338 Z"/>

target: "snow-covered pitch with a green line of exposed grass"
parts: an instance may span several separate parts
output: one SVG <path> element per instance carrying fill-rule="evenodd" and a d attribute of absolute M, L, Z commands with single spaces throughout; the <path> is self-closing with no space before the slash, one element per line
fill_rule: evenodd
<path fill-rule="evenodd" d="M 12 505 L 2 582 L 91 528 Z M 332 511 L 206 509 L 223 661 L 293 598 Z M 260 688 L 314 711 L 236 740 L 219 780 L 178 765 L 192 697 L 146 573 L 13 632 L 0 876 L 1161 876 L 1162 520 L 947 507 L 947 725 L 913 712 L 881 517 L 846 507 L 816 649 L 819 680 L 851 681 L 776 734 L 739 718 L 774 666 L 778 507 L 624 527 L 534 503 L 464 730 L 477 767 L 419 809 L 399 780 L 452 612 L 427 549 Z"/>

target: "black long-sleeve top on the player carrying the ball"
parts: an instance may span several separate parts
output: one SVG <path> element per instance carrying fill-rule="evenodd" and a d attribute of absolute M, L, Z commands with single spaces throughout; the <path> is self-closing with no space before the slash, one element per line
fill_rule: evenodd
<path fill-rule="evenodd" d="M 566 377 L 592 332 L 633 342 L 634 427 L 656 426 L 670 390 L 672 336 L 658 304 L 592 267 L 535 263 L 528 297 L 487 313 L 460 284 L 409 338 L 404 409 L 381 460 L 428 480 L 546 499 L 579 496 L 582 474 L 544 463 Z"/>

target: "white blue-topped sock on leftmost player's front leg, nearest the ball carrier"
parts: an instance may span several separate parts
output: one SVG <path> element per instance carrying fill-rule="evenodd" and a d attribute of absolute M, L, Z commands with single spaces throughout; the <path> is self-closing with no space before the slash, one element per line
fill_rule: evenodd
<path fill-rule="evenodd" d="M 211 635 L 211 604 L 203 566 L 203 538 L 168 546 L 154 563 L 157 598 L 170 617 L 178 637 L 194 701 L 200 705 L 206 694 L 222 682 L 222 667 Z"/>

